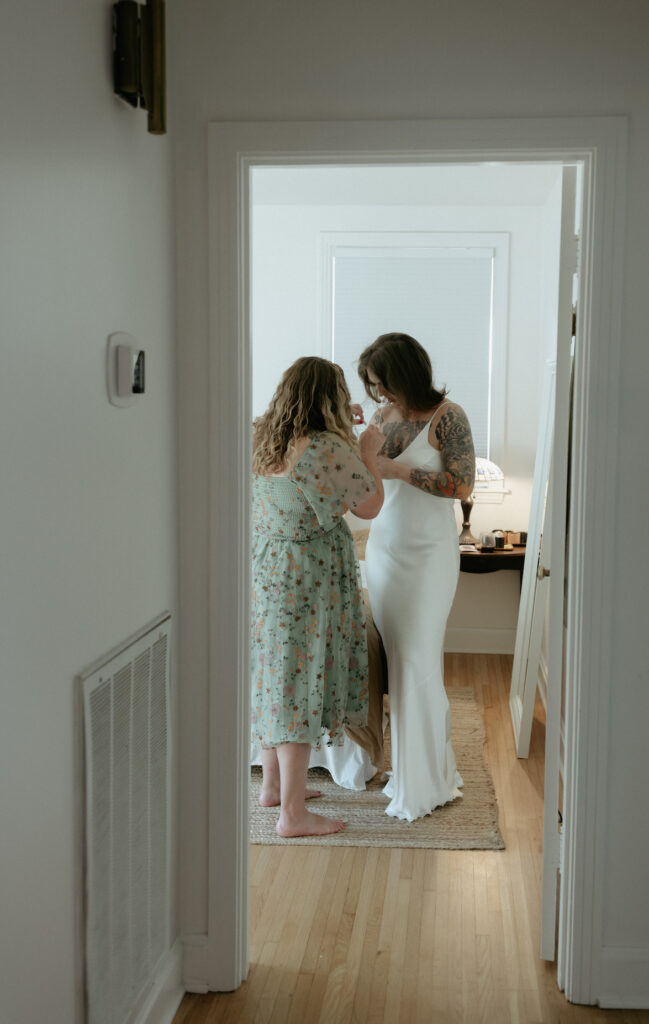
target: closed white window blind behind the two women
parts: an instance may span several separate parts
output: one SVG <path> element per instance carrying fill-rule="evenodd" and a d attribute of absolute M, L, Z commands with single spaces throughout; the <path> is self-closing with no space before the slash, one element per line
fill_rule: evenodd
<path fill-rule="evenodd" d="M 488 458 L 493 250 L 336 246 L 333 255 L 332 357 L 352 401 L 371 409 L 356 370 L 365 345 L 409 334 L 435 384 L 467 413 L 476 455 Z"/>

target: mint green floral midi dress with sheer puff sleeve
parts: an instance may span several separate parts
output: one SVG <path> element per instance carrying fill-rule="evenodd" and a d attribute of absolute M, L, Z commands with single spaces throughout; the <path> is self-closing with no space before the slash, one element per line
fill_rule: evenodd
<path fill-rule="evenodd" d="M 367 721 L 358 562 L 342 518 L 376 485 L 336 434 L 313 434 L 286 477 L 253 478 L 252 738 L 340 744 Z"/>

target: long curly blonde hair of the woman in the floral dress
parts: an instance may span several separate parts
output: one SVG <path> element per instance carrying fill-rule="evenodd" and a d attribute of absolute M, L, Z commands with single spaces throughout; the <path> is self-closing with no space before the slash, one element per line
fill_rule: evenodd
<path fill-rule="evenodd" d="M 341 368 L 329 359 L 305 355 L 284 373 L 268 409 L 253 424 L 253 471 L 276 473 L 291 445 L 301 437 L 329 430 L 354 451 L 350 397 Z"/>

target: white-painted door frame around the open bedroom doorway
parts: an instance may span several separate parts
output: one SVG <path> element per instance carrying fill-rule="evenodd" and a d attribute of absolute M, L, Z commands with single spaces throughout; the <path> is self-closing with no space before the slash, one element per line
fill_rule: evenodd
<path fill-rule="evenodd" d="M 228 990 L 248 972 L 251 441 L 250 171 L 255 166 L 508 161 L 585 166 L 574 381 L 568 591 L 564 865 L 559 983 L 598 995 L 611 689 L 614 465 L 622 294 L 623 118 L 209 125 L 209 877 L 208 933 L 185 978 Z M 227 438 L 227 443 L 223 443 Z M 597 552 L 597 558 L 590 553 Z"/>

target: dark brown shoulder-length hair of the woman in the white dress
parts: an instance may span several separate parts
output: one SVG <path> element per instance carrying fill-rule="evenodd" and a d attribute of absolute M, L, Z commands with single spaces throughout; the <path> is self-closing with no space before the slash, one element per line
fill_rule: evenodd
<path fill-rule="evenodd" d="M 409 334 L 382 334 L 360 353 L 358 376 L 374 401 L 379 401 L 370 372 L 393 394 L 405 414 L 427 412 L 444 398 L 433 384 L 433 368 L 428 352 Z"/>

